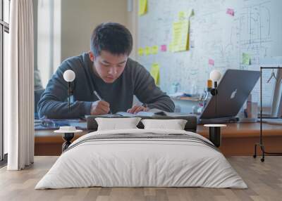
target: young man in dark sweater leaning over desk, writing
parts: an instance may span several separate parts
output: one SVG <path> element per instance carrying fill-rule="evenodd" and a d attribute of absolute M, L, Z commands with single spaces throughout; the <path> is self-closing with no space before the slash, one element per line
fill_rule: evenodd
<path fill-rule="evenodd" d="M 90 52 L 63 61 L 38 103 L 39 117 L 78 118 L 109 111 L 137 113 L 157 108 L 173 112 L 173 101 L 154 84 L 145 67 L 128 58 L 133 38 L 123 25 L 103 23 L 92 32 Z M 63 72 L 73 70 L 73 98 L 68 110 L 68 83 Z M 97 91 L 102 100 L 94 94 Z M 143 105 L 133 106 L 133 95 Z"/>

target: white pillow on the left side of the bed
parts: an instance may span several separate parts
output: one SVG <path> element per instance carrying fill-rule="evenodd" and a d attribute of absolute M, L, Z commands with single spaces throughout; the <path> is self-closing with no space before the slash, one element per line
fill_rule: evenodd
<path fill-rule="evenodd" d="M 118 129 L 137 129 L 140 117 L 133 118 L 95 118 L 98 124 L 98 131 L 118 130 Z"/>

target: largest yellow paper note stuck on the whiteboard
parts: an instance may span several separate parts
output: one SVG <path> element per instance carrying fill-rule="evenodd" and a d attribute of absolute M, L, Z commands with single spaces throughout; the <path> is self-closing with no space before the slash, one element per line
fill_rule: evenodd
<path fill-rule="evenodd" d="M 186 51 L 188 50 L 189 41 L 189 21 L 182 20 L 173 22 L 173 39 L 171 44 L 173 51 Z"/>

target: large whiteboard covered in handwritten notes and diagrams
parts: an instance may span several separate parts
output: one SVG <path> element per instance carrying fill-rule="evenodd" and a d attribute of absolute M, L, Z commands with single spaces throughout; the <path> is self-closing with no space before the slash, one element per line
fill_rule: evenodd
<path fill-rule="evenodd" d="M 227 9 L 234 10 L 228 15 Z M 178 91 L 202 93 L 209 72 L 227 69 L 259 70 L 259 65 L 282 56 L 282 1 L 280 0 L 148 0 L 147 13 L 138 18 L 137 48 L 161 46 L 172 40 L 172 25 L 178 12 L 194 10 L 190 18 L 190 49 L 182 52 L 159 51 L 157 54 L 137 56 L 150 70 L 159 63 L 159 86 L 167 93 L 171 85 L 179 83 Z M 192 47 L 191 47 L 192 44 Z M 250 54 L 251 65 L 244 65 L 243 53 Z M 214 65 L 209 64 L 214 60 Z M 265 72 L 264 79 L 268 79 Z M 265 81 L 265 80 L 264 80 Z M 274 82 L 273 82 L 274 83 Z M 264 102 L 271 101 L 272 86 L 264 84 Z M 259 102 L 259 87 L 252 97 Z"/>

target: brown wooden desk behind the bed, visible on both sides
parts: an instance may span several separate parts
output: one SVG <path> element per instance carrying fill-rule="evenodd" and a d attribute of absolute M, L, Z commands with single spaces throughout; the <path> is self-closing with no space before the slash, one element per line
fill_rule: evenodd
<path fill-rule="evenodd" d="M 263 141 L 266 152 L 282 152 L 282 125 L 263 124 Z M 75 134 L 78 138 L 89 131 Z M 198 125 L 197 134 L 208 137 L 209 129 Z M 221 129 L 221 147 L 224 155 L 253 155 L 259 142 L 259 123 L 227 124 Z M 53 131 L 35 131 L 35 155 L 61 155 L 61 134 Z M 260 152 L 259 152 L 260 153 Z"/>

